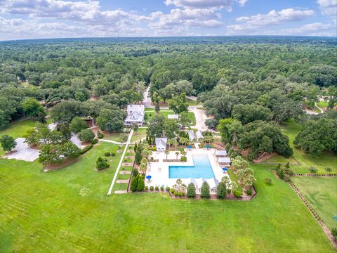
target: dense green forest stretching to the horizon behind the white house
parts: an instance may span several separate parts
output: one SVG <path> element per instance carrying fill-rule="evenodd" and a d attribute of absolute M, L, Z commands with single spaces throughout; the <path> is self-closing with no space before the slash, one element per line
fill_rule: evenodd
<path fill-rule="evenodd" d="M 308 124 L 303 131 L 315 128 L 312 120 L 332 121 L 331 131 L 336 126 L 336 113 L 312 119 L 303 110 L 319 98 L 329 102 L 329 109 L 336 105 L 336 45 L 334 38 L 318 37 L 2 42 L 0 127 L 24 116 L 44 122 L 52 108 L 51 117 L 59 126 L 90 116 L 98 119 L 101 129 L 119 131 L 123 109 L 142 101 L 150 85 L 154 103 L 184 92 L 197 96 L 211 116 L 206 124 L 219 125 L 224 141 L 232 146 L 255 146 L 251 157 L 267 150 L 289 157 L 289 141 L 282 134 L 275 137 L 280 133 L 277 123 L 295 119 Z M 232 121 L 221 122 L 228 118 Z M 239 124 L 237 138 L 228 132 L 229 124 Z M 260 134 L 253 140 L 258 130 L 274 134 Z M 298 136 L 296 144 L 308 152 L 337 150 L 336 138 L 329 147 L 308 148 L 305 136 Z M 335 136 L 333 132 L 332 140 Z"/>

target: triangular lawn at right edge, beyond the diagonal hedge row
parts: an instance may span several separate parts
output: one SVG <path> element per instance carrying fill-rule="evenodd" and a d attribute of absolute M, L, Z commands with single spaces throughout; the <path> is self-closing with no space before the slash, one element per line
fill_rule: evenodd
<path fill-rule="evenodd" d="M 330 229 L 337 226 L 337 178 L 293 177 L 293 183 L 305 195 L 310 205 Z"/>

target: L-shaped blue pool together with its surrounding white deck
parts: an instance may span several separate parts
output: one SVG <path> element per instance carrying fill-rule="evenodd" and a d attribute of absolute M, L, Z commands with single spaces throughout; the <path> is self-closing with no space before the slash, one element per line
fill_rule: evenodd
<path fill-rule="evenodd" d="M 158 162 L 148 164 L 146 176 L 151 176 L 151 179 L 145 179 L 145 186 L 172 187 L 176 184 L 177 179 L 181 179 L 186 186 L 191 182 L 194 183 L 198 192 L 201 184 L 207 181 L 211 193 L 215 193 L 214 189 L 218 182 L 224 176 L 229 178 L 227 171 L 223 171 L 218 164 L 215 150 L 189 149 L 185 151 L 187 152 L 187 162 L 164 162 L 166 160 L 164 152 L 153 153 L 154 160 L 158 160 Z M 178 156 L 178 160 L 180 157 L 181 155 Z M 168 160 L 177 160 L 176 152 L 171 151 L 167 158 Z"/>

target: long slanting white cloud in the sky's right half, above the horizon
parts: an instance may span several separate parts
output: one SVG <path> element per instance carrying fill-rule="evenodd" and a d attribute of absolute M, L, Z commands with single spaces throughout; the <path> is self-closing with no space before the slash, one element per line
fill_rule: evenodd
<path fill-rule="evenodd" d="M 300 11 L 293 8 L 287 8 L 282 11 L 272 10 L 267 14 L 239 17 L 236 20 L 242 24 L 227 25 L 227 34 L 258 34 L 262 27 L 267 28 L 273 25 L 282 25 L 287 22 L 305 20 L 305 18 L 312 15 L 315 15 L 315 11 Z"/>

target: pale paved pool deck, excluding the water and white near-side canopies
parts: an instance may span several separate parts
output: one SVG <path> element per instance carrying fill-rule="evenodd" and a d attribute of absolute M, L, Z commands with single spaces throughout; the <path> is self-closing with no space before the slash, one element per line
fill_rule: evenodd
<path fill-rule="evenodd" d="M 187 152 L 187 162 L 164 162 L 166 160 L 166 154 L 164 152 L 154 152 L 152 156 L 154 160 L 159 160 L 158 162 L 150 162 L 146 176 L 152 176 L 152 179 L 145 179 L 145 186 L 169 186 L 172 187 L 176 184 L 177 179 L 169 178 L 169 166 L 194 166 L 192 155 L 208 155 L 209 162 L 211 163 L 211 167 L 213 169 L 213 174 L 215 178 L 220 182 L 224 176 L 228 176 L 227 172 L 223 172 L 222 167 L 216 162 L 215 149 L 194 149 L 191 150 L 185 149 Z M 178 159 L 180 159 L 182 155 L 178 155 Z M 176 151 L 171 151 L 168 155 L 169 160 L 176 160 Z M 228 176 L 229 177 L 229 176 Z M 191 182 L 190 179 L 181 179 L 183 183 L 188 185 Z M 197 186 L 200 188 L 201 186 Z"/>

